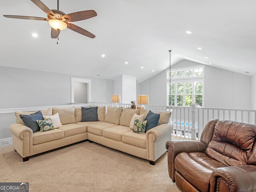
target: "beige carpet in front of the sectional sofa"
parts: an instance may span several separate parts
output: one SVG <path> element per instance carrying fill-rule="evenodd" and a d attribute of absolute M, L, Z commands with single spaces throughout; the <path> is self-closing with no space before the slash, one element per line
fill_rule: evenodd
<path fill-rule="evenodd" d="M 0 182 L 29 182 L 30 192 L 180 192 L 168 176 L 167 153 L 155 166 L 105 146 L 80 142 L 27 162 L 0 147 Z"/>

